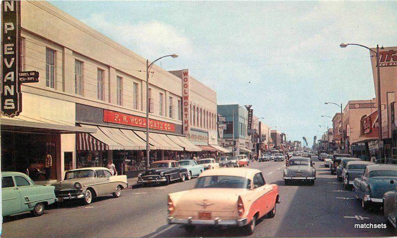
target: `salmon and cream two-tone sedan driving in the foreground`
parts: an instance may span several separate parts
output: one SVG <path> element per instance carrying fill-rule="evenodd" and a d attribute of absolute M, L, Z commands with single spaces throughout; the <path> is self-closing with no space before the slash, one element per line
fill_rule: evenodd
<path fill-rule="evenodd" d="M 222 168 L 200 174 L 192 190 L 168 195 L 168 223 L 242 227 L 251 235 L 258 219 L 272 218 L 280 203 L 278 186 L 266 184 L 260 170 Z"/>

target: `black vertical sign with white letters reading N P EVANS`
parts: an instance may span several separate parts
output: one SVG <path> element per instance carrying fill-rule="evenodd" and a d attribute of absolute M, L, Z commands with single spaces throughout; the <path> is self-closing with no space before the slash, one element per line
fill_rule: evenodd
<path fill-rule="evenodd" d="M 20 1 L 1 1 L 1 113 L 18 116 L 22 111 L 18 83 Z"/>

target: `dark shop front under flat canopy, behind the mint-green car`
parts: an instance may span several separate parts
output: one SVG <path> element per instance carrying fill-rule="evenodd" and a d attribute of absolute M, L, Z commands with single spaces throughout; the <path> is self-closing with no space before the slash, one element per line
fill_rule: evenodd
<path fill-rule="evenodd" d="M 1 171 L 21 172 L 34 181 L 57 179 L 59 134 L 1 131 Z"/>

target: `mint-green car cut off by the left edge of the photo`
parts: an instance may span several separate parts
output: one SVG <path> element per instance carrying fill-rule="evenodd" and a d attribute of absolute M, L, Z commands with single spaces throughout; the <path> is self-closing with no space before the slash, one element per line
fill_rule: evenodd
<path fill-rule="evenodd" d="M 30 211 L 41 216 L 45 206 L 57 201 L 54 186 L 35 185 L 29 176 L 18 172 L 1 172 L 2 216 Z"/>

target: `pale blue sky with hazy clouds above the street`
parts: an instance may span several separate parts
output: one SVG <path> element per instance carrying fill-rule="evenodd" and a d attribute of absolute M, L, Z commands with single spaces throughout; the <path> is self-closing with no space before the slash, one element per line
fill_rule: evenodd
<path fill-rule="evenodd" d="M 397 45 L 397 1 L 50 1 L 218 104 L 253 105 L 287 140 L 321 137 L 342 103 L 375 97 L 368 47 Z M 158 63 L 160 64 L 160 63 Z"/>

